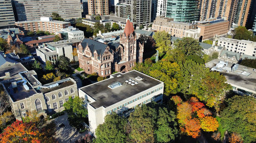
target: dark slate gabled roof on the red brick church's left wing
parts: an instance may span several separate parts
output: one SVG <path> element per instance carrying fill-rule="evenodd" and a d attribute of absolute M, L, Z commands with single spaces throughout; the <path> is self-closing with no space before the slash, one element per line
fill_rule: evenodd
<path fill-rule="evenodd" d="M 92 39 L 83 39 L 82 42 L 81 42 L 81 45 L 84 48 L 86 48 L 86 46 L 88 45 L 89 48 L 91 49 L 92 51 L 92 56 L 94 57 L 94 51 L 96 50 L 98 54 L 102 55 L 106 49 L 106 47 L 108 45 L 106 44 L 103 44 L 101 42 L 98 42 L 98 41 L 95 41 L 95 40 L 92 40 Z"/>

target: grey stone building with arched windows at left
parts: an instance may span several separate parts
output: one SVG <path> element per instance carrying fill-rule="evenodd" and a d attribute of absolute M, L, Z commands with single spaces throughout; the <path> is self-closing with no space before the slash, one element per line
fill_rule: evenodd
<path fill-rule="evenodd" d="M 63 103 L 69 97 L 78 96 L 76 81 L 61 79 L 42 85 L 35 71 L 28 71 L 22 64 L 0 68 L 0 81 L 3 85 L 17 120 L 22 120 L 29 112 L 36 110 L 42 115 L 65 109 Z"/>

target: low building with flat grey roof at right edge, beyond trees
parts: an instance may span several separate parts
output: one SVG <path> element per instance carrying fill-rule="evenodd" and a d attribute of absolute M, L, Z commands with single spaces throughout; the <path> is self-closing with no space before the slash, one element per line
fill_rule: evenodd
<path fill-rule="evenodd" d="M 233 91 L 237 94 L 256 94 L 256 70 L 250 67 L 223 62 L 222 60 L 212 60 L 205 64 L 212 71 L 219 71 L 223 74 L 227 83 L 229 83 Z"/>

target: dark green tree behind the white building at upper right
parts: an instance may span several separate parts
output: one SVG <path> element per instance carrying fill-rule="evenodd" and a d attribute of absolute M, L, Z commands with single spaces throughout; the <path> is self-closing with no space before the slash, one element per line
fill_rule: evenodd
<path fill-rule="evenodd" d="M 244 26 L 238 26 L 234 29 L 234 39 L 250 40 L 251 35 L 252 33 L 250 33 Z"/>

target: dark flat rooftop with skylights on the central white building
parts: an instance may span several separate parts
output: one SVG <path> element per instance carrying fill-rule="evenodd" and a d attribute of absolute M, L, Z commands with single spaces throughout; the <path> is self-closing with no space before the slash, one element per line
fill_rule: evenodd
<path fill-rule="evenodd" d="M 135 70 L 124 74 L 116 73 L 112 76 L 114 77 L 80 88 L 81 91 L 96 100 L 95 102 L 90 104 L 94 108 L 99 108 L 101 106 L 111 106 L 117 102 L 120 102 L 126 98 L 129 98 L 133 95 L 136 95 L 162 83 L 159 80 L 156 80 Z M 143 79 L 137 80 L 135 79 L 136 77 L 141 77 Z M 138 83 L 135 85 L 131 85 L 125 82 L 129 79 L 132 79 Z M 122 85 L 114 89 L 108 87 L 110 84 L 115 82 L 120 82 Z"/>

